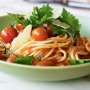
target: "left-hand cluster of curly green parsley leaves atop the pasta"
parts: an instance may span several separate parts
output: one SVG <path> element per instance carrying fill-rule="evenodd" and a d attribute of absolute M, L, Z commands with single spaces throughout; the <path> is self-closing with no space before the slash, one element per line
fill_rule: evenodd
<path fill-rule="evenodd" d="M 8 13 L 9 16 L 11 16 L 15 20 L 16 23 L 21 23 L 24 24 L 25 26 L 32 24 L 34 28 L 41 26 L 43 23 L 50 23 L 52 22 L 51 16 L 53 15 L 52 13 L 52 8 L 47 5 L 43 5 L 41 8 L 39 7 L 34 7 L 32 11 L 32 15 L 30 16 L 29 19 L 25 19 L 24 15 L 21 14 L 11 14 Z"/>

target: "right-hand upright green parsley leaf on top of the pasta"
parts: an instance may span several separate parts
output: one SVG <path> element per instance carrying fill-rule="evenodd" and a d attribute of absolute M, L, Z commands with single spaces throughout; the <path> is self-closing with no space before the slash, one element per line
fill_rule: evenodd
<path fill-rule="evenodd" d="M 72 37 L 76 37 L 80 35 L 80 27 L 78 19 L 68 12 L 65 8 L 62 11 L 61 16 L 58 18 L 60 21 L 70 25 L 70 28 L 68 29 L 69 32 L 72 33 Z"/>

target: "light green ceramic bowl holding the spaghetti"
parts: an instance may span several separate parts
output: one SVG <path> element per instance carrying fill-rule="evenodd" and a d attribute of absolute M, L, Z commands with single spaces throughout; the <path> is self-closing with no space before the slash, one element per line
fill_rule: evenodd
<path fill-rule="evenodd" d="M 81 35 L 90 38 L 90 18 L 78 17 L 82 24 Z M 0 30 L 12 23 L 8 16 L 0 17 Z M 28 66 L 0 61 L 0 71 L 17 78 L 38 81 L 60 81 L 83 77 L 90 74 L 90 63 L 72 66 Z"/>

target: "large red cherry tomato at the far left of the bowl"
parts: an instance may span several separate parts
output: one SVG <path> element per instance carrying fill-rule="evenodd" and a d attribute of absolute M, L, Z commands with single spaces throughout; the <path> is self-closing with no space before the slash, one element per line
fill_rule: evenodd
<path fill-rule="evenodd" d="M 18 32 L 15 28 L 8 26 L 4 30 L 1 31 L 1 38 L 4 43 L 11 43 L 12 40 L 17 37 Z"/>

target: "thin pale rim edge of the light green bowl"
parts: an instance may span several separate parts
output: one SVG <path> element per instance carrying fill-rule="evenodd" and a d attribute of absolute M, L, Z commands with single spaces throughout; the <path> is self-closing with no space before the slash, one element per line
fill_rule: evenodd
<path fill-rule="evenodd" d="M 86 16 L 80 16 L 80 15 L 75 15 L 75 16 L 90 19 L 90 17 L 86 17 Z M 0 16 L 0 18 L 4 18 L 4 17 L 9 17 L 9 16 L 8 15 Z M 2 60 L 0 60 L 0 64 L 12 66 L 12 67 L 29 68 L 29 69 L 31 68 L 32 69 L 70 69 L 70 68 L 80 68 L 80 67 L 90 66 L 90 63 L 84 63 L 80 65 L 69 65 L 69 66 L 32 66 L 32 65 L 9 63 L 9 62 L 2 61 Z"/>

